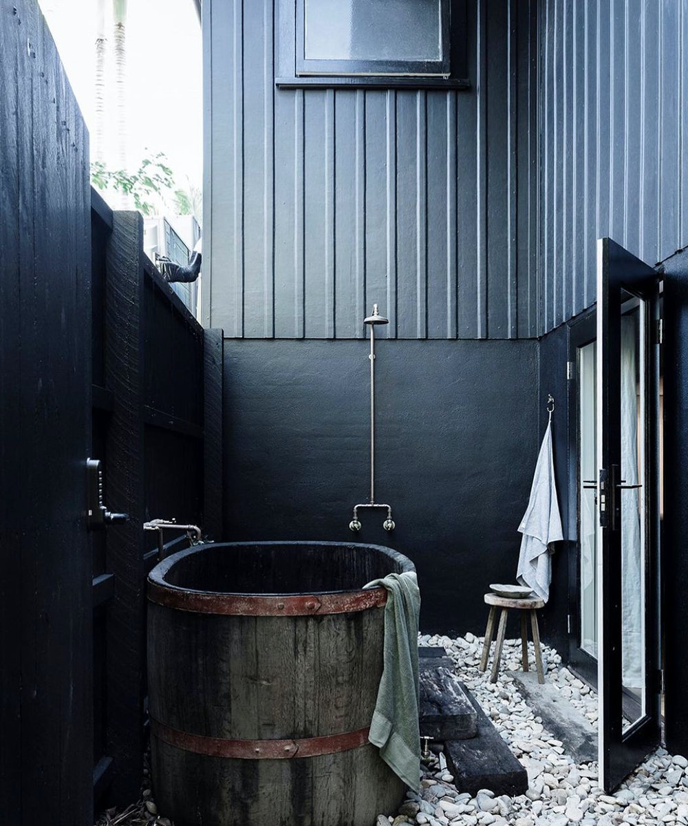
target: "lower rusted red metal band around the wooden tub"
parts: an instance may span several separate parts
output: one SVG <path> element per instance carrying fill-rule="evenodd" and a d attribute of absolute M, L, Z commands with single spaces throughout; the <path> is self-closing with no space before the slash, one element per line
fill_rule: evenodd
<path fill-rule="evenodd" d="M 368 743 L 370 729 L 358 729 L 325 737 L 301 740 L 225 740 L 171 729 L 150 718 L 150 731 L 155 737 L 184 752 L 207 757 L 235 757 L 239 760 L 285 760 L 290 757 L 318 757 L 320 754 L 349 752 Z"/>

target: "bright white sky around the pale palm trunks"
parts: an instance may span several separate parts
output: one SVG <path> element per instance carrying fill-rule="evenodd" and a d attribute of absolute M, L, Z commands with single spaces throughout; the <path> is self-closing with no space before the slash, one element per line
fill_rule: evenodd
<path fill-rule="evenodd" d="M 93 122 L 93 0 L 40 0 L 83 116 Z M 193 0 L 129 0 L 132 162 L 163 151 L 178 183 L 202 186 L 202 42 Z"/>

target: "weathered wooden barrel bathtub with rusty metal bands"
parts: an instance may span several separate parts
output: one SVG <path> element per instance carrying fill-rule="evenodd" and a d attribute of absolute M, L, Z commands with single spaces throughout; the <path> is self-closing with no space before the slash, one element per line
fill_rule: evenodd
<path fill-rule="evenodd" d="M 371 826 L 399 778 L 368 743 L 390 548 L 205 544 L 149 576 L 151 761 L 176 826 Z"/>

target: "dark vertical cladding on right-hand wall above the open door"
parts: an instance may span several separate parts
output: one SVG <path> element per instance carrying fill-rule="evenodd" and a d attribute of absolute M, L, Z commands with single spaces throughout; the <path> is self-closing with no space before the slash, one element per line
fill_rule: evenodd
<path fill-rule="evenodd" d="M 688 244 L 688 2 L 539 15 L 543 335 L 595 301 L 597 238 L 650 264 Z"/>

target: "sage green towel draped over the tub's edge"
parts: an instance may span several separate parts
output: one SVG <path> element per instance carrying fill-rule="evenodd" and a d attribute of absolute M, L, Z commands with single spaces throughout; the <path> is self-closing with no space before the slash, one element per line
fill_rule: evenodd
<path fill-rule="evenodd" d="M 420 788 L 418 725 L 418 617 L 420 591 L 415 572 L 391 573 L 366 588 L 387 589 L 384 668 L 368 740 L 380 757 L 414 791 Z"/>

